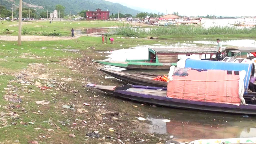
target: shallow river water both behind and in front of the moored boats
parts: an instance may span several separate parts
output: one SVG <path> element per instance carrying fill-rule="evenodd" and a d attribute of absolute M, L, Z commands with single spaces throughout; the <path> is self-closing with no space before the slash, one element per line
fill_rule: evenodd
<path fill-rule="evenodd" d="M 215 41 L 185 41 L 176 44 L 163 44 L 159 42 L 155 45 L 137 46 L 129 49 L 115 50 L 106 56 L 106 60 L 124 61 L 126 59 L 147 59 L 148 48 L 162 47 L 198 47 L 196 43 L 206 44 L 206 46 L 216 45 Z M 255 40 L 227 40 L 222 41 L 224 46 L 248 46 L 256 47 Z M 180 55 L 179 57 L 182 57 Z M 124 70 L 122 68 L 106 66 L 114 70 Z M 125 70 L 128 72 L 136 72 Z M 168 74 L 168 71 L 147 71 L 158 74 Z M 140 107 L 140 103 L 136 103 Z M 146 129 L 136 129 L 148 133 L 173 135 L 177 141 L 193 141 L 197 139 L 221 139 L 221 138 L 246 138 L 256 136 L 256 116 L 232 115 L 205 111 L 182 110 L 166 107 L 146 107 L 144 116 L 148 121 Z M 247 117 L 247 118 L 246 118 Z M 166 120 L 168 120 L 166 122 Z"/>

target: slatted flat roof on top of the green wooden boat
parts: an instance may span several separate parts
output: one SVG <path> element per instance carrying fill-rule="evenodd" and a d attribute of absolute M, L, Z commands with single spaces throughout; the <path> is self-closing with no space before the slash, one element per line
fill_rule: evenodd
<path fill-rule="evenodd" d="M 154 54 L 215 54 L 216 47 L 149 48 Z"/>

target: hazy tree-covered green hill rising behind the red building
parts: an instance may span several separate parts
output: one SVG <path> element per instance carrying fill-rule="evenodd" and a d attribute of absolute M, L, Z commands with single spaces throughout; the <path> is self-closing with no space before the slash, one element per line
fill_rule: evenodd
<path fill-rule="evenodd" d="M 70 11 L 72 14 L 76 14 L 81 10 L 90 10 L 95 11 L 95 9 L 100 8 L 103 11 L 110 11 L 112 13 L 118 13 L 118 11 L 122 14 L 131 14 L 135 16 L 140 11 L 128 8 L 119 3 L 112 3 L 104 0 L 30 0 L 33 5 L 43 6 L 43 8 L 37 9 L 38 12 L 48 11 L 52 12 L 55 9 L 56 4 L 60 4 L 65 6 L 65 13 L 69 14 Z M 30 4 L 29 0 L 23 0 L 26 3 L 25 7 Z M 7 9 L 10 9 L 12 3 L 14 3 L 15 8 L 19 5 L 19 0 L 0 0 L 1 5 L 6 6 Z"/>

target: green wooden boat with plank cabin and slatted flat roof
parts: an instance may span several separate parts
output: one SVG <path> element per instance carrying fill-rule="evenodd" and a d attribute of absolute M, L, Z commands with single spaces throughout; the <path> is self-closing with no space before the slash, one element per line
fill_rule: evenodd
<path fill-rule="evenodd" d="M 187 48 L 149 48 L 148 59 L 137 59 L 125 61 L 104 61 L 92 60 L 95 63 L 126 68 L 134 70 L 155 70 L 155 69 L 169 69 L 170 66 L 176 66 L 178 62 L 178 55 L 202 55 L 216 54 L 215 47 L 187 47 Z"/>

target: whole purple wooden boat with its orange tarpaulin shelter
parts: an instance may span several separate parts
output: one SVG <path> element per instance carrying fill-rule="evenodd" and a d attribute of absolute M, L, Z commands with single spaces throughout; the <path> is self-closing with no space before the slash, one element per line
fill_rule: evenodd
<path fill-rule="evenodd" d="M 256 115 L 255 93 L 243 93 L 245 71 L 187 69 L 172 76 L 167 88 L 137 85 L 87 84 L 118 97 L 182 109 Z M 239 75 L 237 75 L 239 74 Z M 249 81 L 249 80 L 246 80 Z"/>

